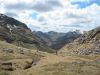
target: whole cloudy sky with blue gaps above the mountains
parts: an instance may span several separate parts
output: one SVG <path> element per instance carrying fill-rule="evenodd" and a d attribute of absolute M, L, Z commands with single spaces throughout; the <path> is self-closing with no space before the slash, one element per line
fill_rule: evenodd
<path fill-rule="evenodd" d="M 32 31 L 88 31 L 100 26 L 100 0 L 0 0 L 0 13 Z"/>

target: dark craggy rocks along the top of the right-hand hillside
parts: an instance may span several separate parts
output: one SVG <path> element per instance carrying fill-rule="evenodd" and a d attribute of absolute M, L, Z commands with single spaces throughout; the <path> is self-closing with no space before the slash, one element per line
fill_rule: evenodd
<path fill-rule="evenodd" d="M 97 42 L 100 41 L 100 27 L 97 27 L 89 32 L 84 33 L 77 42 L 79 43 L 88 43 L 88 42 Z"/>

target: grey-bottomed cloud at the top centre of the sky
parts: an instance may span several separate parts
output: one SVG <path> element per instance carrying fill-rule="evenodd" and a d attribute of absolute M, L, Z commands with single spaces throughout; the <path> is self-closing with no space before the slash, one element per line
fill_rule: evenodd
<path fill-rule="evenodd" d="M 33 5 L 33 9 L 38 12 L 47 12 L 53 10 L 55 7 L 60 7 L 59 0 L 44 0 L 44 2 L 37 2 Z"/>

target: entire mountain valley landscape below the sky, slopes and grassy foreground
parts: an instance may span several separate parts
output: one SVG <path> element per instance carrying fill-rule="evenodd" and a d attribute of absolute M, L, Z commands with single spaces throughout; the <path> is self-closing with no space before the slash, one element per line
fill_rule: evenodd
<path fill-rule="evenodd" d="M 0 15 L 0 75 L 90 74 L 100 74 L 100 27 L 84 34 L 32 32 Z"/>

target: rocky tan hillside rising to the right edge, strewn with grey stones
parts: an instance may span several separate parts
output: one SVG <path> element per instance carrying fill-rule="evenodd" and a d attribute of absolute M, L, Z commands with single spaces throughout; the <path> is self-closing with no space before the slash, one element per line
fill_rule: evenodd
<path fill-rule="evenodd" d="M 100 27 L 85 32 L 74 42 L 65 45 L 60 53 L 65 55 L 100 54 Z"/>

